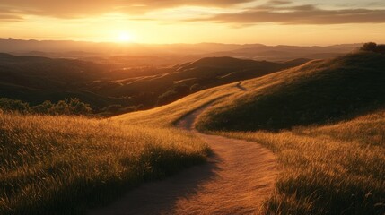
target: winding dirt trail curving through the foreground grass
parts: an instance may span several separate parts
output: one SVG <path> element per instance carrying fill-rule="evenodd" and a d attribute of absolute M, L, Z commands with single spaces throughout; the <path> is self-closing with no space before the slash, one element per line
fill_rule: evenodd
<path fill-rule="evenodd" d="M 238 86 L 238 85 L 237 85 Z M 258 214 L 273 192 L 276 159 L 255 142 L 197 133 L 194 122 L 210 104 L 179 120 L 196 133 L 214 155 L 163 181 L 144 184 L 109 207 L 91 214 Z"/>

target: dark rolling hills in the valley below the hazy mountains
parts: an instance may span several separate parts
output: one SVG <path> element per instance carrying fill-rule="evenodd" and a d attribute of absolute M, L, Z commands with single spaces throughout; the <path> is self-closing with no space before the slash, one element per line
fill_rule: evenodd
<path fill-rule="evenodd" d="M 126 57 L 123 57 L 126 59 Z M 274 63 L 232 57 L 207 57 L 173 67 L 121 68 L 121 64 L 0 54 L 0 97 L 38 105 L 79 98 L 95 110 L 149 108 L 197 90 L 255 78 L 303 64 L 308 59 Z M 114 107 L 109 107 L 114 106 Z"/>

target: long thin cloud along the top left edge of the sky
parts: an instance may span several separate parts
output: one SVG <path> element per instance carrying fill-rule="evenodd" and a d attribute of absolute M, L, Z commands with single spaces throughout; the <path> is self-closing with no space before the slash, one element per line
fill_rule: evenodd
<path fill-rule="evenodd" d="M 255 0 L 1 0 L 0 8 L 17 14 L 76 18 L 112 12 L 146 13 L 183 5 L 227 7 L 252 1 Z"/>

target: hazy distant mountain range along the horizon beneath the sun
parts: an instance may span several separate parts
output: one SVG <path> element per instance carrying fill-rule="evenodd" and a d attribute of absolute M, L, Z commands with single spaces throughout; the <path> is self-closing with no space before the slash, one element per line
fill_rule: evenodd
<path fill-rule="evenodd" d="M 287 61 L 295 58 L 331 58 L 349 53 L 363 44 L 343 44 L 327 47 L 265 46 L 262 44 L 133 44 L 94 43 L 56 40 L 0 39 L 0 52 L 16 56 L 48 56 L 86 59 L 89 61 L 110 60 L 120 56 L 119 63 L 135 58 L 129 66 L 164 66 L 195 61 L 203 57 L 232 56 L 254 60 Z"/>

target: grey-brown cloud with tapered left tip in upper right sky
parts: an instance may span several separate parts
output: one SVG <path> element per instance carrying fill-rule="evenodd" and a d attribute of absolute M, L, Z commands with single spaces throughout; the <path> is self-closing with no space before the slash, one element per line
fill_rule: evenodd
<path fill-rule="evenodd" d="M 275 22 L 280 24 L 344 24 L 384 23 L 385 10 L 372 9 L 320 9 L 312 4 L 288 6 L 286 1 L 271 1 L 268 4 L 245 9 L 239 13 L 221 13 L 203 19 L 206 21 L 235 24 Z"/>

